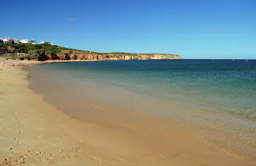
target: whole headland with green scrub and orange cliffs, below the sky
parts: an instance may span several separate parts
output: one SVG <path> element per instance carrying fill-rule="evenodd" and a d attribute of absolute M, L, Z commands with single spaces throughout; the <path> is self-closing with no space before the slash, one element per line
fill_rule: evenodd
<path fill-rule="evenodd" d="M 182 59 L 177 54 L 134 54 L 127 52 L 92 52 L 88 50 L 77 50 L 58 45 L 29 43 L 17 43 L 0 45 L 0 56 L 10 59 L 36 59 L 38 61 L 47 60 L 88 60 L 88 61 L 108 61 L 108 60 L 140 60 L 140 59 Z"/>

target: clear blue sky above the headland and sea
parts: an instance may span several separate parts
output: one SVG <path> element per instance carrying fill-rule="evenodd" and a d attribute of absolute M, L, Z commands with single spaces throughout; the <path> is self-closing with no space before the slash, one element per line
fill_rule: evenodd
<path fill-rule="evenodd" d="M 256 59 L 255 0 L 5 0 L 0 20 L 0 38 L 96 52 Z"/>

